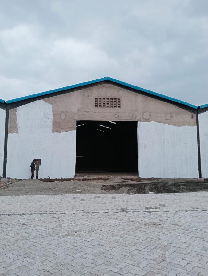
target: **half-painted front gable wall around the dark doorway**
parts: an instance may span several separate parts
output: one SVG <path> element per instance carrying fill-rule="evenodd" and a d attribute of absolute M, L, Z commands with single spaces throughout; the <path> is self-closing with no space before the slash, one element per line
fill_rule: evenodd
<path fill-rule="evenodd" d="M 96 107 L 96 98 L 120 99 L 120 106 Z M 195 114 L 104 83 L 10 109 L 7 177 L 29 178 L 34 158 L 39 178 L 74 177 L 76 120 L 137 121 L 139 176 L 198 177 Z"/>

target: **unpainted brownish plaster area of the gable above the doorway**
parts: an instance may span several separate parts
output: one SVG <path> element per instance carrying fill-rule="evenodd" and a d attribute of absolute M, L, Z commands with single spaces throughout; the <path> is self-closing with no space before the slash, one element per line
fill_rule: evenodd
<path fill-rule="evenodd" d="M 96 108 L 95 98 L 120 98 L 121 108 Z M 194 113 L 173 104 L 112 84 L 100 84 L 44 99 L 53 106 L 52 132 L 76 129 L 76 120 L 157 122 L 173 126 L 196 126 Z M 116 112 L 116 113 L 115 113 Z M 65 114 L 64 115 L 62 114 Z M 193 115 L 193 118 L 192 118 Z M 64 117 L 64 118 L 63 118 Z"/>

